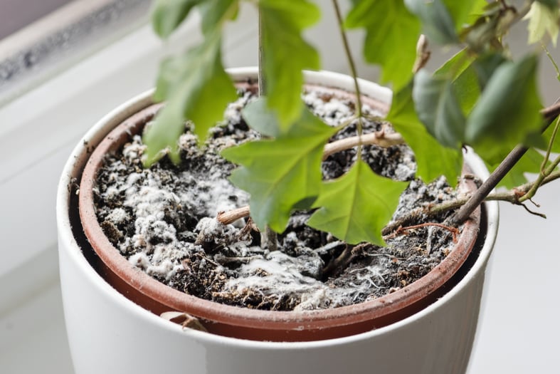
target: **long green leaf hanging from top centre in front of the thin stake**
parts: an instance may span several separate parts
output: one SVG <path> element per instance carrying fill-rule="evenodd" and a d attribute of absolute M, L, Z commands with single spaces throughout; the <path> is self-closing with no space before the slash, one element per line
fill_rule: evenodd
<path fill-rule="evenodd" d="M 260 0 L 265 95 L 283 130 L 297 120 L 302 110 L 303 69 L 319 69 L 319 53 L 302 38 L 305 28 L 321 16 L 306 0 Z"/>

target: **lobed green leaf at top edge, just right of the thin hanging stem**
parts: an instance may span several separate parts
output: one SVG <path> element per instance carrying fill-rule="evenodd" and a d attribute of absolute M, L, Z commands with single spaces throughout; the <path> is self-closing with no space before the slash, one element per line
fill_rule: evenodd
<path fill-rule="evenodd" d="M 416 42 L 420 21 L 411 14 L 403 0 L 353 1 L 345 26 L 364 28 L 364 57 L 381 65 L 381 83 L 393 83 L 398 90 L 412 77 L 416 60 Z"/>

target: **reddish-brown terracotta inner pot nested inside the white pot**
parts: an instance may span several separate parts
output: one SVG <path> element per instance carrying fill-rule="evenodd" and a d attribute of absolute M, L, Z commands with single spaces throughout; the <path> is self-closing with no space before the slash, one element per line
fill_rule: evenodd
<path fill-rule="evenodd" d="M 245 83 L 246 84 L 246 83 Z M 313 86 L 314 88 L 317 86 Z M 324 89 L 324 88 L 323 88 Z M 333 95 L 352 97 L 344 90 Z M 386 113 L 387 105 L 371 98 L 365 103 Z M 351 336 L 389 325 L 420 311 L 453 287 L 452 279 L 472 251 L 480 227 L 480 208 L 465 223 L 453 251 L 422 279 L 372 301 L 320 311 L 262 311 L 228 306 L 184 294 L 134 268 L 105 237 L 97 222 L 93 189 L 104 156 L 129 142 L 162 107 L 150 105 L 130 116 L 105 137 L 90 156 L 80 182 L 79 209 L 85 235 L 99 257 L 97 271 L 117 291 L 149 311 L 182 311 L 201 320 L 209 333 L 257 341 L 317 341 Z M 468 189 L 472 181 L 464 180 Z"/>

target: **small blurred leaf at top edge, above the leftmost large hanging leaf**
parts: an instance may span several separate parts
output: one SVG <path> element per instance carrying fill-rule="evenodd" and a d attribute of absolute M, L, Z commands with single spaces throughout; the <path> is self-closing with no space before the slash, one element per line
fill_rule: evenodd
<path fill-rule="evenodd" d="M 167 38 L 202 0 L 156 0 L 152 9 L 152 27 L 161 38 Z"/>

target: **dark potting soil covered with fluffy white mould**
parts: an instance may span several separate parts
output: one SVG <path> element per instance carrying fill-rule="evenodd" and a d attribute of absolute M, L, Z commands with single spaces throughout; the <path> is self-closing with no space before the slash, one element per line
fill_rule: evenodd
<path fill-rule="evenodd" d="M 240 114 L 253 95 L 243 90 L 239 95 L 204 147 L 196 146 L 196 137 L 186 125 L 179 140 L 182 162 L 178 166 L 164 158 L 144 169 L 139 136 L 119 154 L 107 157 L 97 180 L 97 217 L 131 266 L 212 301 L 278 311 L 311 310 L 384 296 L 427 274 L 453 250 L 452 234 L 433 226 L 387 237 L 386 247 L 348 246 L 307 227 L 310 212 L 295 212 L 278 236 L 278 250 L 269 251 L 261 246 L 260 233 L 250 219 L 227 226 L 219 223 L 218 212 L 242 207 L 249 199 L 228 181 L 236 166 L 219 152 L 259 137 Z M 331 125 L 354 114 L 351 101 L 320 91 L 306 93 L 305 102 Z M 366 113 L 371 118 L 381 115 L 371 108 Z M 364 133 L 391 131 L 387 126 L 381 120 L 366 120 Z M 356 135 L 355 123 L 334 138 L 352 135 Z M 362 158 L 381 175 L 410 181 L 393 219 L 457 194 L 443 177 L 430 185 L 414 180 L 413 153 L 405 145 L 364 146 Z M 339 177 L 355 160 L 356 150 L 329 156 L 322 165 L 324 178 Z"/>

